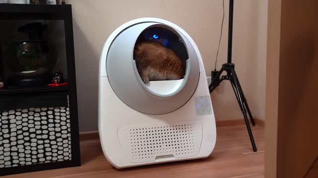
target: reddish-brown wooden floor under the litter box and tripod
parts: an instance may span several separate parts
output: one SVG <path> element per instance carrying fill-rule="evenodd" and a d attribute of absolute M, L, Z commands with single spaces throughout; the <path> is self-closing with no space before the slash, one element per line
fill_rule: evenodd
<path fill-rule="evenodd" d="M 251 149 L 245 126 L 217 129 L 217 144 L 210 157 L 117 170 L 105 159 L 98 140 L 80 143 L 81 167 L 3 178 L 263 178 L 264 129 L 252 128 L 258 152 Z"/>

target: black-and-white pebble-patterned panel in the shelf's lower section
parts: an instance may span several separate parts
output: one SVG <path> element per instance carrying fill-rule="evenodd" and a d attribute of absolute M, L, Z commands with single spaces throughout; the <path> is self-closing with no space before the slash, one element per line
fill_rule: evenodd
<path fill-rule="evenodd" d="M 0 111 L 0 168 L 71 160 L 69 107 Z"/>

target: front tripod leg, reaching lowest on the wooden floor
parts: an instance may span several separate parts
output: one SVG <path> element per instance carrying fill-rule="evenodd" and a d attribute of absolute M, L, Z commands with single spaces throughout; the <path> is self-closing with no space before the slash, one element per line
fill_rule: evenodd
<path fill-rule="evenodd" d="M 231 71 L 232 71 L 232 74 L 235 74 L 234 68 L 232 68 Z M 239 90 L 239 83 L 238 83 L 238 78 L 237 78 L 236 75 L 233 75 L 231 82 L 234 83 L 233 84 L 234 88 L 237 90 L 237 94 L 238 94 L 238 98 L 239 98 L 239 105 L 242 108 L 242 113 L 243 113 L 243 116 L 244 116 L 244 120 L 245 120 L 245 124 L 246 124 L 246 128 L 247 128 L 247 132 L 248 132 L 248 135 L 249 135 L 249 139 L 250 139 L 250 142 L 252 144 L 253 151 L 256 152 L 257 151 L 256 144 L 255 144 L 255 141 L 254 141 L 252 130 L 250 129 L 250 126 L 249 126 L 245 105 L 243 103 L 242 94 L 241 94 L 241 92 Z"/>

